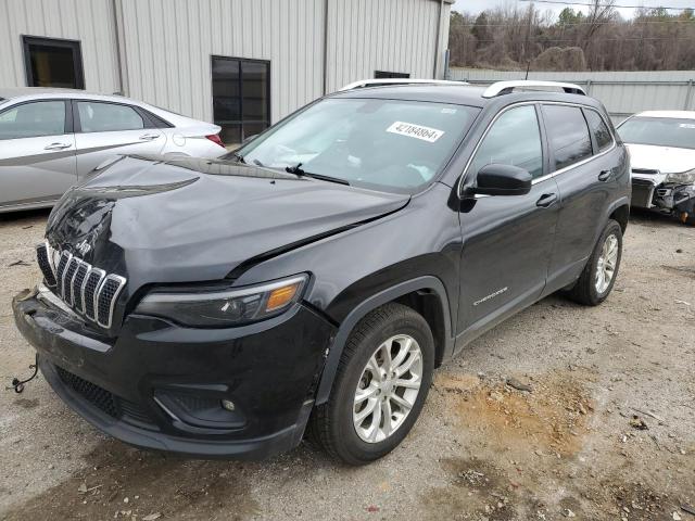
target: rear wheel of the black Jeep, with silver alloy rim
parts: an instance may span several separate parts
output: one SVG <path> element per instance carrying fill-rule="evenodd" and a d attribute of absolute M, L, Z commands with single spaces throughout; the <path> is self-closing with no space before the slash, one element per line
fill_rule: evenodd
<path fill-rule="evenodd" d="M 622 228 L 609 220 L 598 238 L 589 262 L 569 297 L 587 306 L 597 306 L 610 294 L 622 257 Z"/>

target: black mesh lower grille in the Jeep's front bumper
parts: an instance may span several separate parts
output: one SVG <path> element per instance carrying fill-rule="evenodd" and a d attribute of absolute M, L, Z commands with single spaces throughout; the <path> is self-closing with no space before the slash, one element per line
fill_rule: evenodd
<path fill-rule="evenodd" d="M 159 430 L 147 410 L 135 402 L 116 396 L 110 391 L 79 378 L 77 374 L 66 371 L 62 367 L 54 367 L 55 372 L 58 372 L 65 385 L 101 411 L 116 420 L 124 420 L 144 429 Z"/>

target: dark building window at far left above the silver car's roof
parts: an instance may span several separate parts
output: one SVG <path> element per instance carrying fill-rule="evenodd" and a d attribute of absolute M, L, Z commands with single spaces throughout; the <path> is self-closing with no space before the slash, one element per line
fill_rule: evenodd
<path fill-rule="evenodd" d="M 79 41 L 23 36 L 26 85 L 84 89 Z"/>

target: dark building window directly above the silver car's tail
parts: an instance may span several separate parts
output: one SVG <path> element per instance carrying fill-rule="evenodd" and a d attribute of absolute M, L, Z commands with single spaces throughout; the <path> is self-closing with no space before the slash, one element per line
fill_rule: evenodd
<path fill-rule="evenodd" d="M 270 126 L 270 63 L 213 56 L 213 117 L 226 144 Z"/>

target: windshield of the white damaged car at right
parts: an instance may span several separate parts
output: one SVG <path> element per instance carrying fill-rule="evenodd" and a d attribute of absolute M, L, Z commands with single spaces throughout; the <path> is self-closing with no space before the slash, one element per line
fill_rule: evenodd
<path fill-rule="evenodd" d="M 618 127 L 626 143 L 695 149 L 695 119 L 632 117 Z"/>

